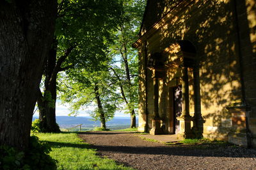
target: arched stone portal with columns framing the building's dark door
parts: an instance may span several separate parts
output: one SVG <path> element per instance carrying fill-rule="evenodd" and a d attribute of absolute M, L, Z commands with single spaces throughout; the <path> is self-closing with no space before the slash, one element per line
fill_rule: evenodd
<path fill-rule="evenodd" d="M 196 50 L 188 40 L 181 40 L 173 43 L 163 52 L 164 65 L 166 67 L 166 86 L 168 90 L 168 100 L 166 110 L 169 111 L 169 129 L 170 134 L 179 134 L 182 137 L 191 137 L 191 122 L 193 121 L 189 111 L 189 104 L 193 100 L 195 110 L 195 101 L 198 100 L 198 89 L 195 88 L 196 72 Z M 197 72 L 198 73 L 198 72 Z M 193 88 L 189 89 L 189 86 Z M 196 91 L 197 90 L 197 91 Z M 189 93 L 193 91 L 193 97 Z M 193 115 L 194 118 L 196 115 Z"/>

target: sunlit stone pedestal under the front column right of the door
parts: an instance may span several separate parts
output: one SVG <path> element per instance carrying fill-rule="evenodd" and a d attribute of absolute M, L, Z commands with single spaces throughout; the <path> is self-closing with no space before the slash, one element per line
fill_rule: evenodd
<path fill-rule="evenodd" d="M 178 134 L 179 139 L 195 138 L 191 131 L 191 121 L 193 121 L 193 118 L 191 116 L 179 117 L 177 120 L 180 121 L 180 132 Z"/>

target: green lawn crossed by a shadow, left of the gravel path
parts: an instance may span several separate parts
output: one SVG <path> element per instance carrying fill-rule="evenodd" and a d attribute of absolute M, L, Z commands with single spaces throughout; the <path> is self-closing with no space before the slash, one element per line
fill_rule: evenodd
<path fill-rule="evenodd" d="M 114 160 L 100 158 L 75 132 L 35 135 L 50 144 L 52 151 L 49 155 L 58 160 L 58 169 L 131 169 L 116 164 Z"/>

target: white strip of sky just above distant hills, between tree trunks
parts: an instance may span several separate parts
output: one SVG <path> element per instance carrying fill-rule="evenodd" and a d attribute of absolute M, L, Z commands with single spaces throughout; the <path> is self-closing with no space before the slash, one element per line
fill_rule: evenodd
<path fill-rule="evenodd" d="M 89 108 L 88 111 L 92 111 L 93 108 Z M 61 104 L 60 100 L 56 101 L 56 116 L 68 116 L 68 114 L 70 113 L 70 111 L 68 110 L 68 105 L 63 105 Z M 39 116 L 39 112 L 36 111 L 34 116 L 38 117 Z M 90 117 L 90 115 L 84 111 L 84 110 L 79 110 L 79 114 L 77 114 L 77 116 L 80 117 Z M 115 113 L 115 117 L 129 117 L 129 114 L 124 114 L 123 112 L 116 112 Z"/>

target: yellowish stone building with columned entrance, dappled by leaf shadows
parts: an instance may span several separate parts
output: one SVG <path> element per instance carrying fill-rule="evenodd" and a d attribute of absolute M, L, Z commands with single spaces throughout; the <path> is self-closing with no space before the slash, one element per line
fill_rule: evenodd
<path fill-rule="evenodd" d="M 256 147 L 256 1 L 148 0 L 139 128 Z"/>

